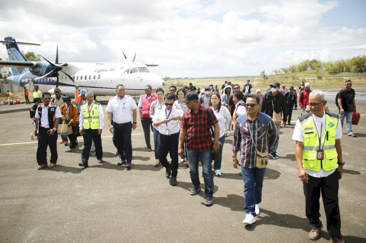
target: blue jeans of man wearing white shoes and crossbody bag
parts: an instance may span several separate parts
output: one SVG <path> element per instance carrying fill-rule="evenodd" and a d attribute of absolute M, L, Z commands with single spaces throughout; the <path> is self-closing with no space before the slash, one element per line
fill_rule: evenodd
<path fill-rule="evenodd" d="M 265 168 L 241 167 L 244 180 L 244 212 L 255 214 L 255 205 L 262 202 Z"/>

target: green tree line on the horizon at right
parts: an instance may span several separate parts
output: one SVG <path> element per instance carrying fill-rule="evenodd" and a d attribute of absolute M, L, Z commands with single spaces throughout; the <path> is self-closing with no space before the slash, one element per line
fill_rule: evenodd
<path fill-rule="evenodd" d="M 338 60 L 335 62 L 322 62 L 317 59 L 306 59 L 299 64 L 291 65 L 287 68 L 281 68 L 280 70 L 273 70 L 272 72 L 278 74 L 288 74 L 304 71 L 327 71 L 329 74 L 338 73 L 365 73 L 366 72 L 366 56 L 354 56 L 346 60 Z"/>

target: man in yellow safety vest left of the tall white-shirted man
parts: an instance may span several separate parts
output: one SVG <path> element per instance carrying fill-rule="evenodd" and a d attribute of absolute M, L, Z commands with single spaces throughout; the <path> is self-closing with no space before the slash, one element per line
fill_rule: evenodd
<path fill-rule="evenodd" d="M 104 114 L 102 105 L 94 101 L 94 93 L 88 91 L 85 94 L 87 103 L 81 106 L 80 112 L 80 135 L 84 137 L 84 148 L 81 152 L 81 163 L 79 166 L 88 167 L 88 160 L 92 141 L 95 144 L 95 151 L 98 163 L 103 163 L 102 129 L 104 126 Z"/>

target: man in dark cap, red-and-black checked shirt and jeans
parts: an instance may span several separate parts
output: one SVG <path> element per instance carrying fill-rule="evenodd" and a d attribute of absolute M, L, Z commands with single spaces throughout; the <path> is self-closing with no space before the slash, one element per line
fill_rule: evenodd
<path fill-rule="evenodd" d="M 205 109 L 198 100 L 198 94 L 189 92 L 185 95 L 183 102 L 187 104 L 189 110 L 183 113 L 181 131 L 179 134 L 178 154 L 183 157 L 183 142 L 187 135 L 185 146 L 188 153 L 189 174 L 193 188 L 190 194 L 196 195 L 200 190 L 200 178 L 198 176 L 198 159 L 201 159 L 203 168 L 204 193 L 206 194 L 206 206 L 213 205 L 213 176 L 212 176 L 212 160 L 211 160 L 211 132 L 208 121 L 211 121 L 214 127 L 215 142 L 213 149 L 220 150 L 219 135 L 220 128 L 218 120 L 212 109 Z"/>

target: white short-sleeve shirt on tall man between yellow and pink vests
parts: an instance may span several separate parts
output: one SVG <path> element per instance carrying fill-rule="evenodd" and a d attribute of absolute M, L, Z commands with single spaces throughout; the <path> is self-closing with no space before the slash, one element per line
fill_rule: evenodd
<path fill-rule="evenodd" d="M 132 111 L 136 110 L 137 106 L 135 101 L 129 95 L 124 95 L 122 99 L 117 95 L 110 98 L 105 111 L 112 112 L 113 122 L 122 124 L 131 122 Z"/>

